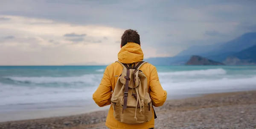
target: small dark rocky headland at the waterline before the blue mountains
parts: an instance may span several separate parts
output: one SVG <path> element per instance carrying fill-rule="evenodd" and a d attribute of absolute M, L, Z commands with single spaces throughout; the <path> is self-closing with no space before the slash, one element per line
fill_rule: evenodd
<path fill-rule="evenodd" d="M 192 56 L 186 65 L 224 65 L 221 62 L 216 62 L 201 56 Z"/>

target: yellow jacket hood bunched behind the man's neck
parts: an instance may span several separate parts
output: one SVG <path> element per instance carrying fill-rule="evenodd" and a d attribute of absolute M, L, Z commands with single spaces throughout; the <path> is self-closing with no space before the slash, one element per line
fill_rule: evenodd
<path fill-rule="evenodd" d="M 134 42 L 128 42 L 122 46 L 118 53 L 118 60 L 124 64 L 131 64 L 143 61 L 143 51 L 140 45 Z"/>

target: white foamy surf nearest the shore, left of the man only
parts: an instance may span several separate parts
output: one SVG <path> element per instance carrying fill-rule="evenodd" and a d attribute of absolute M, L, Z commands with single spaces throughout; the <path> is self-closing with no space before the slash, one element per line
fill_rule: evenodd
<path fill-rule="evenodd" d="M 97 88 L 20 87 L 1 83 L 0 87 L 0 106 L 86 100 L 91 99 Z"/>

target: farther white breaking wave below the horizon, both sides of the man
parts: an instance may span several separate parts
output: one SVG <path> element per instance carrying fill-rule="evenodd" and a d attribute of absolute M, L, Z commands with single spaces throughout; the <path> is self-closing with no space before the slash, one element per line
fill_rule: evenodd
<path fill-rule="evenodd" d="M 99 69 L 103 70 L 103 69 Z M 225 75 L 227 72 L 224 69 L 207 69 L 207 70 L 191 70 L 191 71 L 177 71 L 169 73 L 159 73 L 159 79 L 163 82 L 168 82 L 174 77 L 179 81 L 180 79 L 193 79 L 200 75 L 203 76 L 214 76 L 214 75 Z M 83 76 L 65 76 L 65 77 L 52 77 L 52 76 L 7 76 L 5 79 L 14 82 L 14 84 L 24 84 L 24 85 L 33 85 L 39 84 L 43 86 L 96 86 L 99 85 L 102 74 L 85 74 Z M 190 76 L 187 78 L 187 76 Z M 193 78 L 191 78 L 193 77 Z"/>

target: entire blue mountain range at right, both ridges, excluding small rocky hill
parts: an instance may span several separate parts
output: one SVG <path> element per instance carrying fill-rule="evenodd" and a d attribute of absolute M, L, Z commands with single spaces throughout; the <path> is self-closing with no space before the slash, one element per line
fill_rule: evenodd
<path fill-rule="evenodd" d="M 243 34 L 229 42 L 192 46 L 174 57 L 155 57 L 145 61 L 154 65 L 184 65 L 195 55 L 227 65 L 256 64 L 256 32 Z"/>

